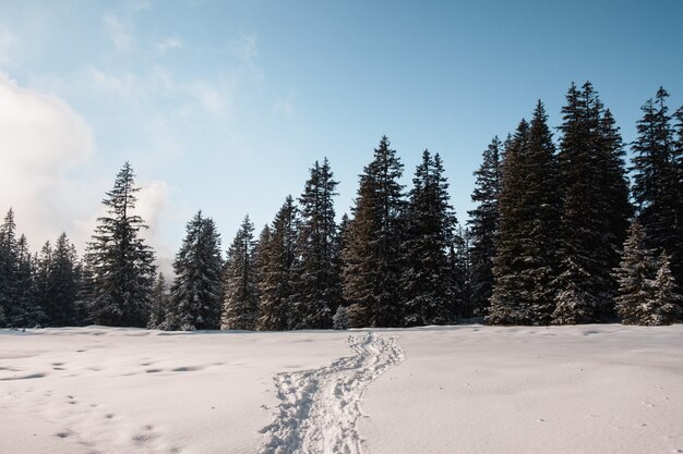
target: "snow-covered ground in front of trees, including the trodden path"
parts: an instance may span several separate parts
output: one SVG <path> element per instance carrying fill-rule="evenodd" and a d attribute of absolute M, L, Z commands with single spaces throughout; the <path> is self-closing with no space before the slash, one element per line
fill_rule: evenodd
<path fill-rule="evenodd" d="M 683 326 L 0 330 L 0 453 L 683 452 Z"/>

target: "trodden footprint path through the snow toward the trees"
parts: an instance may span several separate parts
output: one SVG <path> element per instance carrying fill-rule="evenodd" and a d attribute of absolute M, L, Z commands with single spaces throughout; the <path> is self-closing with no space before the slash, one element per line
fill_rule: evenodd
<path fill-rule="evenodd" d="M 262 454 L 361 454 L 358 420 L 364 390 L 405 356 L 395 338 L 374 332 L 351 335 L 355 356 L 320 369 L 278 373 L 280 404 L 275 420 L 261 430 Z"/>

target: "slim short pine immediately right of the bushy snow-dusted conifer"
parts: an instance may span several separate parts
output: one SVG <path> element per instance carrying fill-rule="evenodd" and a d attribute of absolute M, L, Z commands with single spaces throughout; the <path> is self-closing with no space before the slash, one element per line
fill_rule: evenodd
<path fill-rule="evenodd" d="M 221 330 L 254 330 L 259 296 L 254 275 L 254 224 L 244 217 L 228 249 L 224 277 Z"/>

